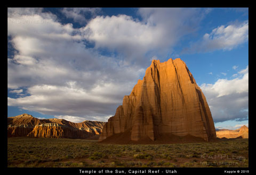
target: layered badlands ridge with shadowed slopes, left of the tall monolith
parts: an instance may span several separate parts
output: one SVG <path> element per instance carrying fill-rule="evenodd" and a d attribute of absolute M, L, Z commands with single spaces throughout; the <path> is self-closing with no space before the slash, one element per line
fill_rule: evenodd
<path fill-rule="evenodd" d="M 8 137 L 97 138 L 105 122 L 83 121 L 73 123 L 64 119 L 37 119 L 22 114 L 7 118 Z"/>

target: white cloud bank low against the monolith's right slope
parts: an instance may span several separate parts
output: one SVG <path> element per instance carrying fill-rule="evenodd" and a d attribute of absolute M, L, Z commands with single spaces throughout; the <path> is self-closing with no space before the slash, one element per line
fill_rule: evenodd
<path fill-rule="evenodd" d="M 214 122 L 243 121 L 248 117 L 249 68 L 238 72 L 234 79 L 218 79 L 214 84 L 202 84 L 201 89 L 210 106 Z"/>

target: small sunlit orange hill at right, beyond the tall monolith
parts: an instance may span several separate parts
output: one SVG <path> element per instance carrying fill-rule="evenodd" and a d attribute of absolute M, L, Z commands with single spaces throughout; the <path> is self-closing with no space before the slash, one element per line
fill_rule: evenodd
<path fill-rule="evenodd" d="M 216 131 L 218 138 L 249 138 L 249 128 L 245 125 L 236 130 L 221 129 Z"/>

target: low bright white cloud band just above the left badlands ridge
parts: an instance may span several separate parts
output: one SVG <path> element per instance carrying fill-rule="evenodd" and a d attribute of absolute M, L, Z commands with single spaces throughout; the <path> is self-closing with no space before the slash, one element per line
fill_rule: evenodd
<path fill-rule="evenodd" d="M 77 87 L 75 82 L 67 86 L 36 85 L 27 89 L 29 96 L 8 97 L 7 104 L 50 115 L 82 116 L 91 120 L 101 116 L 104 119 L 106 115 L 113 115 L 117 104 L 122 103 L 122 98 L 115 94 L 119 94 L 118 88 L 121 87 L 109 85 L 89 91 Z"/>

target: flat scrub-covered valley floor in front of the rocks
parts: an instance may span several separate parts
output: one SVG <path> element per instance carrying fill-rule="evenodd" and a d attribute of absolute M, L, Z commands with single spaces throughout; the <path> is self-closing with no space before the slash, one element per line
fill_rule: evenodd
<path fill-rule="evenodd" d="M 97 140 L 7 139 L 8 167 L 248 167 L 248 139 L 113 145 Z"/>

